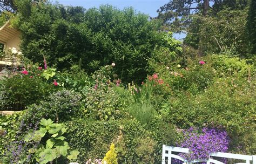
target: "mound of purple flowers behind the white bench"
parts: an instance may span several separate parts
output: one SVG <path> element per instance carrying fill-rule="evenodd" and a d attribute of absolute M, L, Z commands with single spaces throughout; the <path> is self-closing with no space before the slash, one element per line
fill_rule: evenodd
<path fill-rule="evenodd" d="M 189 148 L 190 153 L 180 153 L 187 161 L 207 160 L 211 153 L 227 152 L 229 138 L 227 132 L 215 128 L 190 128 L 183 131 L 184 139 L 177 144 L 179 147 Z"/>

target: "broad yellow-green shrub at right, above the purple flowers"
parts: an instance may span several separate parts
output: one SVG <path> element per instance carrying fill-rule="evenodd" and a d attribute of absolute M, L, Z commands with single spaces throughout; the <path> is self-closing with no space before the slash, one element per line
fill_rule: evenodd
<path fill-rule="evenodd" d="M 240 78 L 219 79 L 200 95 L 173 99 L 170 121 L 180 128 L 224 127 L 231 137 L 231 149 L 241 147 L 251 154 L 253 148 L 248 143 L 255 140 L 253 83 Z"/>

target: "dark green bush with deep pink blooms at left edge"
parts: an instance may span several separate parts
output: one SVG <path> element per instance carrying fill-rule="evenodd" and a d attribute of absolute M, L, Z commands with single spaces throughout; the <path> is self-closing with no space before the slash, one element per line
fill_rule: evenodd
<path fill-rule="evenodd" d="M 52 84 L 32 76 L 26 70 L 22 72 L 1 81 L 1 110 L 24 110 L 26 106 L 38 103 L 54 91 Z"/>

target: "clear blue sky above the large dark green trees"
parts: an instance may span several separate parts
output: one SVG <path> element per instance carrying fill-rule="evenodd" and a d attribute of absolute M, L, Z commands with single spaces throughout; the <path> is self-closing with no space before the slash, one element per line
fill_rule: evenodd
<path fill-rule="evenodd" d="M 53 2 L 54 1 L 55 0 L 53 0 Z M 99 5 L 102 4 L 110 4 L 118 9 L 132 6 L 138 12 L 143 12 L 151 17 L 156 17 L 158 15 L 157 9 L 168 3 L 169 0 L 58 0 L 57 2 L 63 5 L 83 6 L 85 9 L 93 7 L 98 8 Z M 174 35 L 174 38 L 176 39 L 182 39 L 184 37 L 184 34 Z"/>

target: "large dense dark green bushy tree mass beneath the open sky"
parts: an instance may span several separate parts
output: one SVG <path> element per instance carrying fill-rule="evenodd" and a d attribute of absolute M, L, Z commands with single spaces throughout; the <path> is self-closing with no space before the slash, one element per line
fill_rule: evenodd
<path fill-rule="evenodd" d="M 32 61 L 42 61 L 44 54 L 50 65 L 69 69 L 81 59 L 89 73 L 116 63 L 114 69 L 125 81 L 142 81 L 154 47 L 162 44 L 157 21 L 110 5 L 85 10 L 39 4 L 28 16 L 19 16 L 16 26 L 22 32 L 22 52 Z"/>

